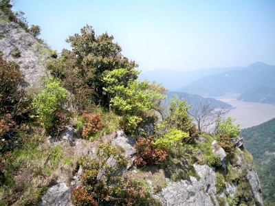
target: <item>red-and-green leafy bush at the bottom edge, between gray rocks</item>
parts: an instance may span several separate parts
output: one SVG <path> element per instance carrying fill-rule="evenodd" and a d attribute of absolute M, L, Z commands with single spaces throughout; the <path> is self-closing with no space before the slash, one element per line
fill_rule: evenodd
<path fill-rule="evenodd" d="M 82 185 L 73 190 L 74 205 L 144 205 L 148 193 L 135 181 L 122 179 L 126 158 L 111 144 L 100 144 L 96 158 L 83 157 Z"/>

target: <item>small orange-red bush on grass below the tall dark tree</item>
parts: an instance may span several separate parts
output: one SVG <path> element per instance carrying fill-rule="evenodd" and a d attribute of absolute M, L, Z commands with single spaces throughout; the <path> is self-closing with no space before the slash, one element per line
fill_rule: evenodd
<path fill-rule="evenodd" d="M 98 114 L 83 113 L 82 121 L 84 124 L 82 136 L 87 139 L 103 126 L 103 123 L 100 121 L 100 115 Z"/>

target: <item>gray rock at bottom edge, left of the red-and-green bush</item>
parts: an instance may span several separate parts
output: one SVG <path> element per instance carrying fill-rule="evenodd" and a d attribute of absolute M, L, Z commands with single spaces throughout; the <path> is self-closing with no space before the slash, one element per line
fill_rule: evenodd
<path fill-rule="evenodd" d="M 36 206 L 71 206 L 71 195 L 72 189 L 65 183 L 59 183 L 50 187 Z"/>

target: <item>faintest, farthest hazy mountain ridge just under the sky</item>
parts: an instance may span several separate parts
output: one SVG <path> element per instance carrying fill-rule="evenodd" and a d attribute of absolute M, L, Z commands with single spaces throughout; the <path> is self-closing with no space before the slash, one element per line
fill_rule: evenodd
<path fill-rule="evenodd" d="M 225 71 L 239 71 L 242 67 L 221 67 L 200 69 L 195 71 L 170 71 L 159 69 L 154 71 L 145 71 L 140 73 L 140 80 L 150 80 L 161 83 L 170 91 L 180 91 L 181 87 L 185 87 L 192 82 L 204 78 L 206 76 L 213 76 Z"/>

